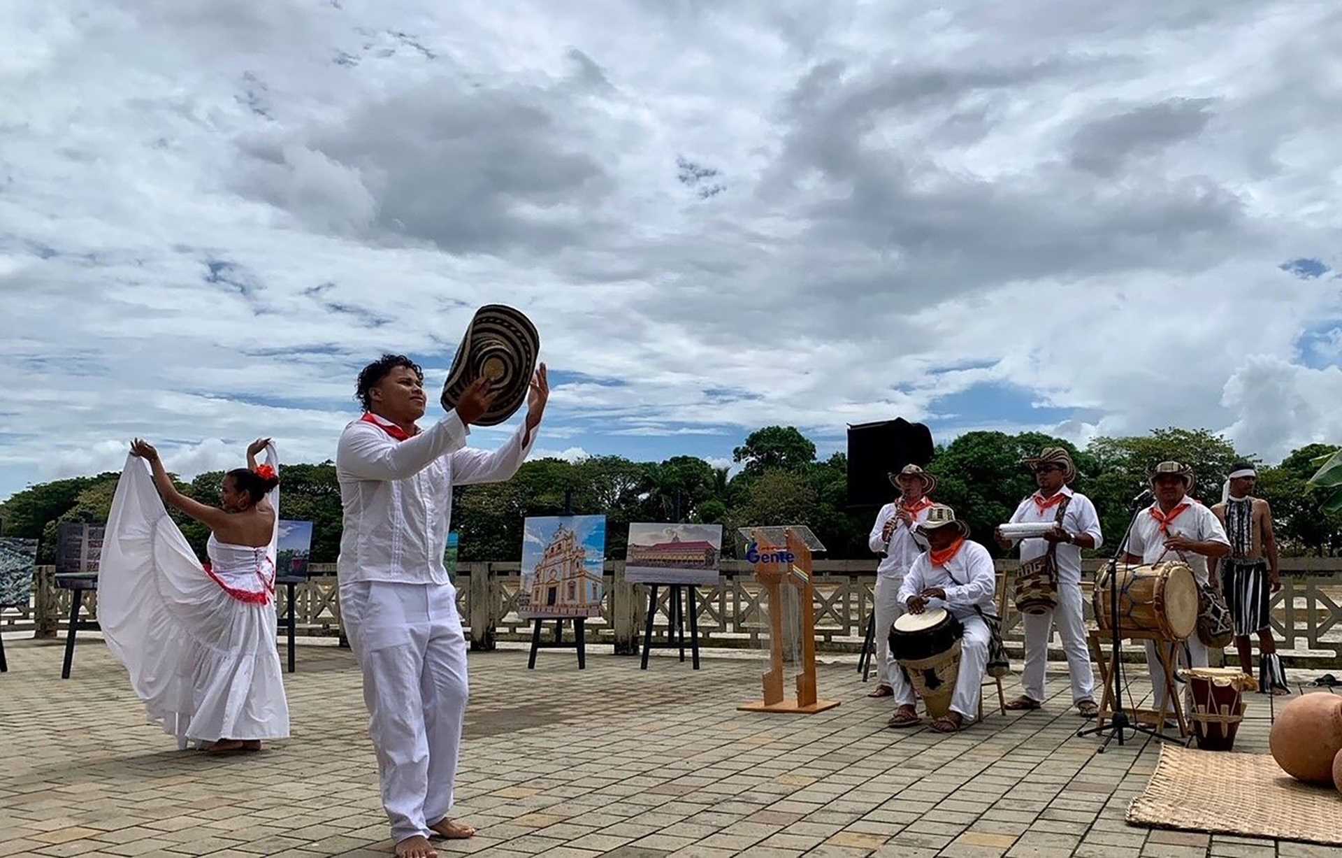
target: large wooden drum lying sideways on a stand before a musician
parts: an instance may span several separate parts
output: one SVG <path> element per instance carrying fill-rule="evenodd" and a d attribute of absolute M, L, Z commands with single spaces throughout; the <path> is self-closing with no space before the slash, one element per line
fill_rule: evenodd
<path fill-rule="evenodd" d="M 1111 631 L 1108 573 L 1095 579 L 1091 593 L 1095 624 Z M 1164 640 L 1182 640 L 1197 630 L 1197 579 L 1188 565 L 1170 561 L 1118 569 L 1119 631 L 1149 632 Z"/>

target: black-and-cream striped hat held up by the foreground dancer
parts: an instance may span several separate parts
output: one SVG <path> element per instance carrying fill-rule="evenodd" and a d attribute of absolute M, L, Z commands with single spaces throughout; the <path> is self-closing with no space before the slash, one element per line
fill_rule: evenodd
<path fill-rule="evenodd" d="M 452 359 L 443 385 L 443 408 L 455 408 L 466 388 L 483 376 L 490 380 L 495 397 L 475 424 L 498 426 L 507 420 L 526 401 L 539 350 L 535 325 L 521 312 L 502 303 L 480 307 Z"/>

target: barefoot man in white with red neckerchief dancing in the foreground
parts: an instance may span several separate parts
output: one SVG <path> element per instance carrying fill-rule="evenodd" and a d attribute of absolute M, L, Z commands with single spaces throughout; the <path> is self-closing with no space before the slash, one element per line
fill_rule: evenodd
<path fill-rule="evenodd" d="M 357 397 L 364 416 L 345 427 L 336 454 L 345 509 L 341 616 L 364 673 L 396 854 L 436 858 L 433 834 L 475 834 L 447 818 L 467 700 L 466 638 L 443 567 L 452 486 L 517 473 L 535 440 L 549 384 L 541 364 L 526 420 L 494 452 L 464 446 L 470 424 L 494 400 L 483 379 L 423 431 L 415 423 L 424 416 L 424 373 L 408 357 L 384 354 L 365 367 Z"/>

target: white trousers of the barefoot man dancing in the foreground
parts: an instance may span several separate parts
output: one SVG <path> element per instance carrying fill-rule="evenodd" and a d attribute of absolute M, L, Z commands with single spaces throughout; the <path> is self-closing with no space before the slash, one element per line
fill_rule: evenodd
<path fill-rule="evenodd" d="M 452 808 L 468 685 L 451 584 L 341 585 L 341 619 L 364 673 L 369 737 L 396 842 Z"/>

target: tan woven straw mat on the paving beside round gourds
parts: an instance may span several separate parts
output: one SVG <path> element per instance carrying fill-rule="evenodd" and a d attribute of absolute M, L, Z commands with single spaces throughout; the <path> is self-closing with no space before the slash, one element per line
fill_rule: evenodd
<path fill-rule="evenodd" d="M 1342 845 L 1342 795 L 1303 784 L 1266 753 L 1164 745 L 1127 822 L 1158 828 Z"/>

